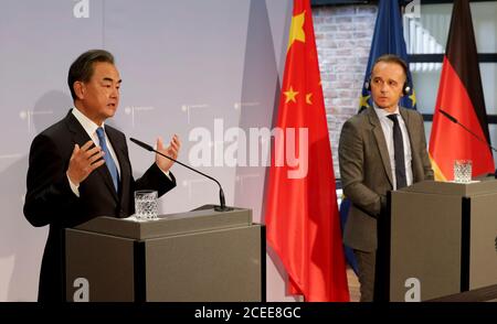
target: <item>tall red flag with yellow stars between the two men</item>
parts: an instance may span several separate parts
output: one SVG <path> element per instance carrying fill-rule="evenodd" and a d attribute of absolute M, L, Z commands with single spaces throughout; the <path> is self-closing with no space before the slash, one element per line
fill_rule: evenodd
<path fill-rule="evenodd" d="M 267 241 L 306 301 L 349 301 L 309 0 L 295 0 L 266 197 Z"/>

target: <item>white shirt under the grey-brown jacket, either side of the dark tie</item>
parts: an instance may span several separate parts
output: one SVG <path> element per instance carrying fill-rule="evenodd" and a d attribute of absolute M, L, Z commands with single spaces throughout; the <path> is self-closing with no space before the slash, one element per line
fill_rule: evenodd
<path fill-rule="evenodd" d="M 378 108 L 377 105 L 374 105 L 374 111 L 377 112 L 377 116 L 380 119 L 381 129 L 383 130 L 384 139 L 387 142 L 387 149 L 389 150 L 390 166 L 392 169 L 392 177 L 393 177 L 393 190 L 396 190 L 395 152 L 393 148 L 393 121 L 389 119 L 387 116 L 393 114 L 399 115 L 398 120 L 402 132 L 402 141 L 404 144 L 405 177 L 408 180 L 408 186 L 410 186 L 413 181 L 411 168 L 412 165 L 411 141 L 409 139 L 408 127 L 405 126 L 402 115 L 400 115 L 399 112 L 399 107 L 395 108 L 394 112 L 388 112 L 387 110 Z"/>

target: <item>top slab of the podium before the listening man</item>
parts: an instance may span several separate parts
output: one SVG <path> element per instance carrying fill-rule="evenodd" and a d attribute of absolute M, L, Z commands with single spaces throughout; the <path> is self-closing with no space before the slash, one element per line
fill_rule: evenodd
<path fill-rule="evenodd" d="M 497 180 L 485 177 L 470 183 L 423 181 L 414 183 L 409 187 L 404 187 L 399 192 L 438 194 L 438 195 L 457 195 L 474 196 L 483 194 L 491 194 L 497 192 Z"/>

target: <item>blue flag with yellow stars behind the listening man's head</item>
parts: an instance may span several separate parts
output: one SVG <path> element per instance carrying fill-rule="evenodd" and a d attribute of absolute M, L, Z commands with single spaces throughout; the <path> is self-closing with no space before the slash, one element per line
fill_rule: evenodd
<path fill-rule="evenodd" d="M 409 64 L 399 0 L 380 0 L 364 83 L 371 75 L 374 61 L 383 54 L 395 54 Z M 401 98 L 400 106 L 416 109 L 416 97 L 412 85 L 411 72 L 408 71 L 408 84 L 411 90 Z M 370 93 L 362 86 L 359 109 L 362 110 L 367 107 L 372 107 L 372 99 Z"/>

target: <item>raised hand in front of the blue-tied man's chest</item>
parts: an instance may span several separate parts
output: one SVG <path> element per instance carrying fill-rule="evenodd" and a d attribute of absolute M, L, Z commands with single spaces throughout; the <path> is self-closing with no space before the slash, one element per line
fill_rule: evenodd
<path fill-rule="evenodd" d="M 103 165 L 105 160 L 104 151 L 99 147 L 94 147 L 93 141 L 87 141 L 83 147 L 74 144 L 67 168 L 67 176 L 75 184 L 80 185 L 95 169 Z"/>

